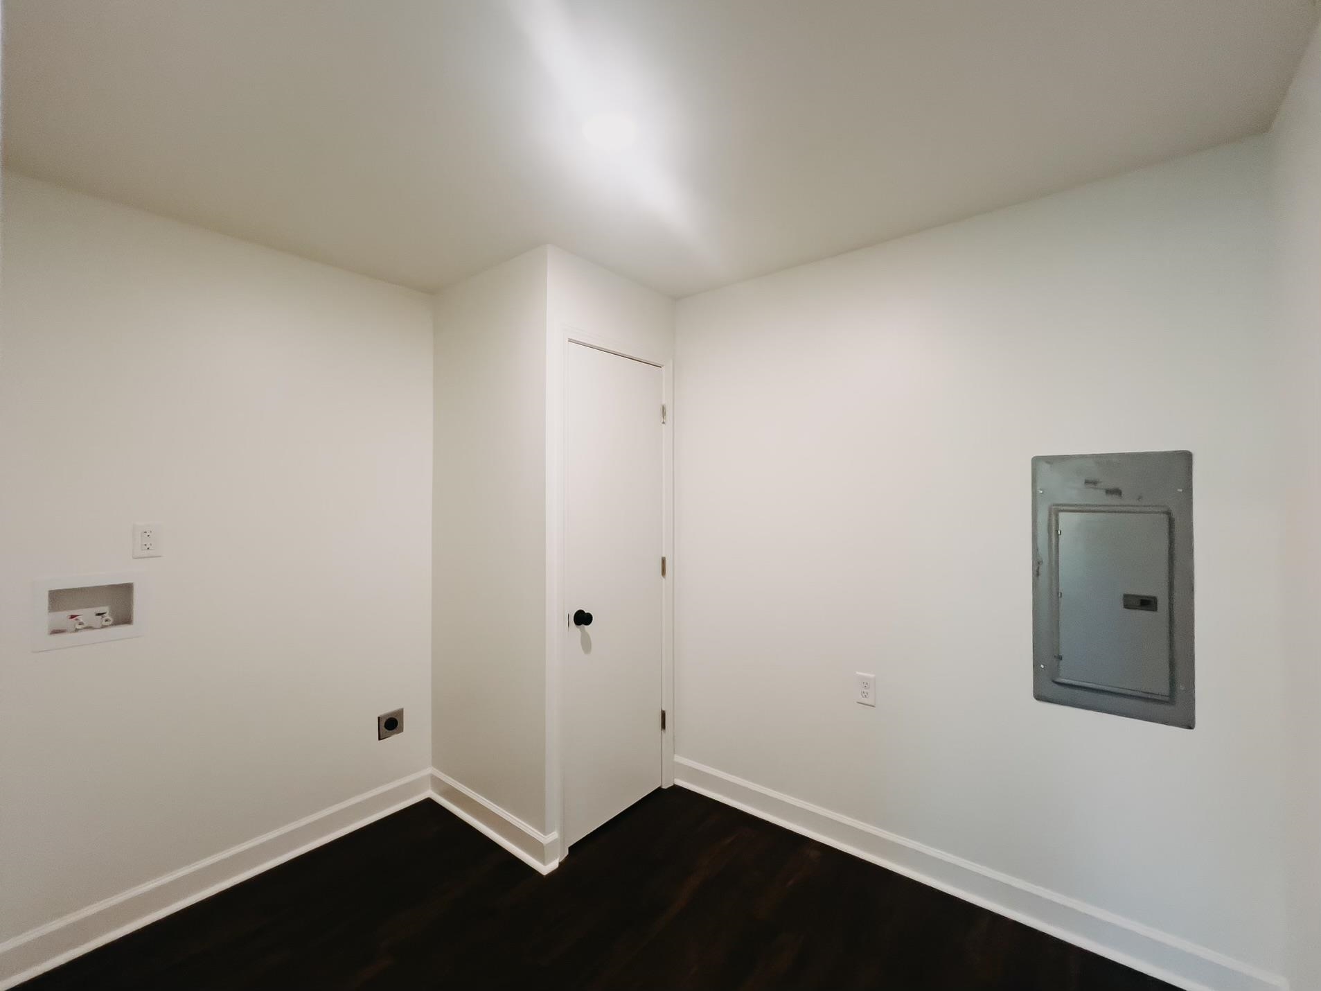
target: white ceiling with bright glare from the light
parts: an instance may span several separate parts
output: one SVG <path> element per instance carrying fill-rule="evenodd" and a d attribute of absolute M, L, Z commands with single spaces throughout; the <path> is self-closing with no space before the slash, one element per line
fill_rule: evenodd
<path fill-rule="evenodd" d="M 5 0 L 12 166 L 435 289 L 682 296 L 1266 129 L 1312 0 Z M 626 111 L 641 140 L 589 148 Z"/>

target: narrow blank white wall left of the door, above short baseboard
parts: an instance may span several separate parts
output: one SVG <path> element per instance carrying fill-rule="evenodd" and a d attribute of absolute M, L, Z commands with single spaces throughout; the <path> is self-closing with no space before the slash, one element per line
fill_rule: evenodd
<path fill-rule="evenodd" d="M 546 830 L 546 248 L 436 297 L 433 766 Z"/>

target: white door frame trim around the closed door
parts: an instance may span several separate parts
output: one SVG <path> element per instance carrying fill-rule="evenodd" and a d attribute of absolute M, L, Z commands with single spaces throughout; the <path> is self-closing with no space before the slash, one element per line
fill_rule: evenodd
<path fill-rule="evenodd" d="M 553 838 L 556 856 L 568 855 L 564 842 L 564 745 L 563 665 L 564 630 L 568 616 L 564 577 L 564 449 L 567 443 L 565 404 L 569 348 L 592 348 L 660 369 L 660 402 L 667 415 L 660 435 L 660 550 L 666 576 L 660 583 L 660 707 L 666 729 L 660 733 L 660 786 L 674 784 L 674 359 L 638 353 L 620 341 L 592 334 L 583 328 L 553 322 L 547 334 L 546 388 L 546 825 Z M 657 419 L 660 410 L 657 410 Z M 657 731 L 660 714 L 657 712 Z"/>

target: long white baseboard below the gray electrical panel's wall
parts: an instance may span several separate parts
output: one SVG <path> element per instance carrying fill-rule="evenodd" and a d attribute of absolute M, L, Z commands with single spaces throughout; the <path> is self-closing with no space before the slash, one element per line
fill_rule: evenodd
<path fill-rule="evenodd" d="M 1288 991 L 1252 965 L 684 757 L 675 784 L 1188 991 Z"/>

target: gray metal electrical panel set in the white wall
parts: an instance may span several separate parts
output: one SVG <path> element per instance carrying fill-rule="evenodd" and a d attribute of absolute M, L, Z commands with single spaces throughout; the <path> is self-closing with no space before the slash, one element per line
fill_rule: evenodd
<path fill-rule="evenodd" d="M 1193 456 L 1032 459 L 1033 694 L 1193 728 Z"/>

